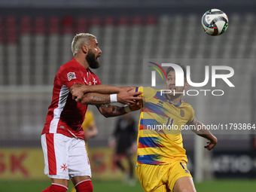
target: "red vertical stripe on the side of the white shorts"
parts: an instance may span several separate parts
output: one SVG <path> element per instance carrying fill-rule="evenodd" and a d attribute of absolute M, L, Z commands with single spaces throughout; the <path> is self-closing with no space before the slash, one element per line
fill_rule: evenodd
<path fill-rule="evenodd" d="M 48 166 L 49 166 L 49 174 L 56 175 L 56 157 L 55 157 L 55 149 L 54 149 L 54 134 L 47 133 L 46 136 L 46 143 L 47 143 L 47 158 L 48 158 Z"/>

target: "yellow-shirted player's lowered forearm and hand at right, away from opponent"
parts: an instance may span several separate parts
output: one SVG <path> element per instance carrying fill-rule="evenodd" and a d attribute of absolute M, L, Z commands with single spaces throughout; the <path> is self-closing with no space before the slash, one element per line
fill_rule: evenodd
<path fill-rule="evenodd" d="M 205 148 L 207 148 L 209 151 L 212 148 L 215 148 L 215 145 L 218 142 L 218 139 L 212 135 L 209 130 L 206 129 L 206 126 L 203 125 L 199 120 L 197 120 L 196 117 L 194 117 L 194 120 L 191 123 L 187 123 L 187 125 L 192 125 L 194 129 L 192 131 L 197 134 L 197 136 L 201 136 L 205 139 L 208 139 L 209 142 L 207 142 L 207 145 Z"/>

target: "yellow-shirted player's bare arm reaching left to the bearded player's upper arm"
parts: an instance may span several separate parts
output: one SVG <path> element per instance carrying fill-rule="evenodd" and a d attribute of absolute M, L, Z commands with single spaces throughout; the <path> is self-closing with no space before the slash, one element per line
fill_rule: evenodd
<path fill-rule="evenodd" d="M 76 102 L 79 102 L 85 93 L 114 94 L 114 93 L 120 93 L 125 88 L 127 87 L 117 87 L 117 86 L 109 86 L 109 85 L 103 85 L 103 84 L 97 84 L 97 85 L 81 84 L 80 86 L 73 87 L 70 92 L 72 93 L 72 99 L 75 99 Z M 135 90 L 135 88 L 136 87 L 130 87 L 131 90 Z"/>

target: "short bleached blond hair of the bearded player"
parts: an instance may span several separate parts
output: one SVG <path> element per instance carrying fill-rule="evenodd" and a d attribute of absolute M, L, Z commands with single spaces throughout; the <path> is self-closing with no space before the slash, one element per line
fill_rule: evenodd
<path fill-rule="evenodd" d="M 75 35 L 71 44 L 71 50 L 72 50 L 73 56 L 79 53 L 79 51 L 81 50 L 81 47 L 83 47 L 84 44 L 88 45 L 91 38 L 96 38 L 96 36 L 90 33 L 79 33 Z"/>

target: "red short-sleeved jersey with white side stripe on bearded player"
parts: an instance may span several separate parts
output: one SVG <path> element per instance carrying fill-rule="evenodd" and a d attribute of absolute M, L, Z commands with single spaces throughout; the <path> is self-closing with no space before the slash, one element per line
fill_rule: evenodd
<path fill-rule="evenodd" d="M 44 133 L 61 133 L 69 137 L 84 139 L 82 123 L 87 105 L 72 99 L 69 87 L 73 84 L 101 84 L 99 78 L 75 59 L 60 66 L 54 78 L 53 98 L 48 108 Z"/>

